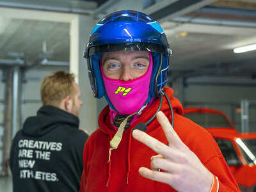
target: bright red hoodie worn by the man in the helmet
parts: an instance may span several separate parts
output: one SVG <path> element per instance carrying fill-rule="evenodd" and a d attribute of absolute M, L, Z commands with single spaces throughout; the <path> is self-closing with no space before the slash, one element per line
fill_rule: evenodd
<path fill-rule="evenodd" d="M 174 130 L 180 139 L 192 150 L 204 166 L 220 180 L 220 191 L 239 191 L 220 148 L 204 128 L 182 116 L 183 108 L 179 100 L 172 97 L 173 90 L 164 88 L 170 98 L 174 115 Z M 81 178 L 80 192 L 100 191 L 175 191 L 171 186 L 149 180 L 138 173 L 141 166 L 150 168 L 150 157 L 157 155 L 140 141 L 134 140 L 131 131 L 139 122 L 146 123 L 156 113 L 159 106 L 157 99 L 140 118 L 124 131 L 118 148 L 111 150 L 109 141 L 116 131 L 110 122 L 109 106 L 99 115 L 99 129 L 92 133 L 84 146 L 84 171 Z M 171 121 L 170 108 L 163 99 L 161 111 Z M 168 143 L 163 129 L 156 118 L 148 126 L 147 134 L 157 140 Z M 108 162 L 109 161 L 109 162 Z"/>

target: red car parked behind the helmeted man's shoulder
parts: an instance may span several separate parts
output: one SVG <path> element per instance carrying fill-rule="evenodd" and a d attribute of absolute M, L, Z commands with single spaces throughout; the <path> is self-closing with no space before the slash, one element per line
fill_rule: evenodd
<path fill-rule="evenodd" d="M 215 109 L 184 108 L 184 116 L 211 133 L 240 190 L 256 192 L 256 134 L 237 132 L 228 116 Z"/>

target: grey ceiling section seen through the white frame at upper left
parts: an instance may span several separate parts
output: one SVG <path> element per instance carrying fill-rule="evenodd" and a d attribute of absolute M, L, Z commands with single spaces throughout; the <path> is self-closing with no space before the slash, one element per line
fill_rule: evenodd
<path fill-rule="evenodd" d="M 23 52 L 26 61 L 44 56 L 69 61 L 69 24 L 35 20 L 4 19 L 0 22 L 0 58 L 13 60 L 12 52 Z"/>

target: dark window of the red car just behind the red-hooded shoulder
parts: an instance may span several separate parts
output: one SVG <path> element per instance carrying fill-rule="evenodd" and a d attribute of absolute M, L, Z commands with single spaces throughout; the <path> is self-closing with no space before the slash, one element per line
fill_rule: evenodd
<path fill-rule="evenodd" d="M 224 116 L 215 113 L 186 113 L 184 116 L 204 128 L 230 127 Z"/>

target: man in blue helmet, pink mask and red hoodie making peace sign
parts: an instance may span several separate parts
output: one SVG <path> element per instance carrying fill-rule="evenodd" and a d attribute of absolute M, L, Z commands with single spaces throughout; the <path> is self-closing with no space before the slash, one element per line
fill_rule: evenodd
<path fill-rule="evenodd" d="M 239 191 L 214 139 L 164 87 L 171 54 L 140 12 L 111 13 L 93 29 L 84 57 L 94 96 L 109 106 L 84 147 L 81 192 Z"/>

